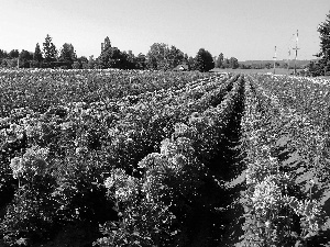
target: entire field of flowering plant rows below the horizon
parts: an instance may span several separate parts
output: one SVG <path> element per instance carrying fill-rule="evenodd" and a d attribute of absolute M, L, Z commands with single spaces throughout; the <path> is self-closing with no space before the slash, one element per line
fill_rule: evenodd
<path fill-rule="evenodd" d="M 0 246 L 330 246 L 329 89 L 0 70 Z"/>

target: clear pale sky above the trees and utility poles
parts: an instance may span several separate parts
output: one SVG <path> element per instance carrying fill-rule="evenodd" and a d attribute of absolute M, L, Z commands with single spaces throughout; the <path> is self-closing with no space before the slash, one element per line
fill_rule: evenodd
<path fill-rule="evenodd" d="M 99 56 L 101 42 L 146 54 L 153 43 L 195 56 L 239 60 L 287 59 L 299 30 L 298 59 L 319 50 L 317 27 L 330 0 L 0 0 L 0 48 L 34 52 L 47 34 L 59 49 L 72 43 L 78 56 Z"/>

